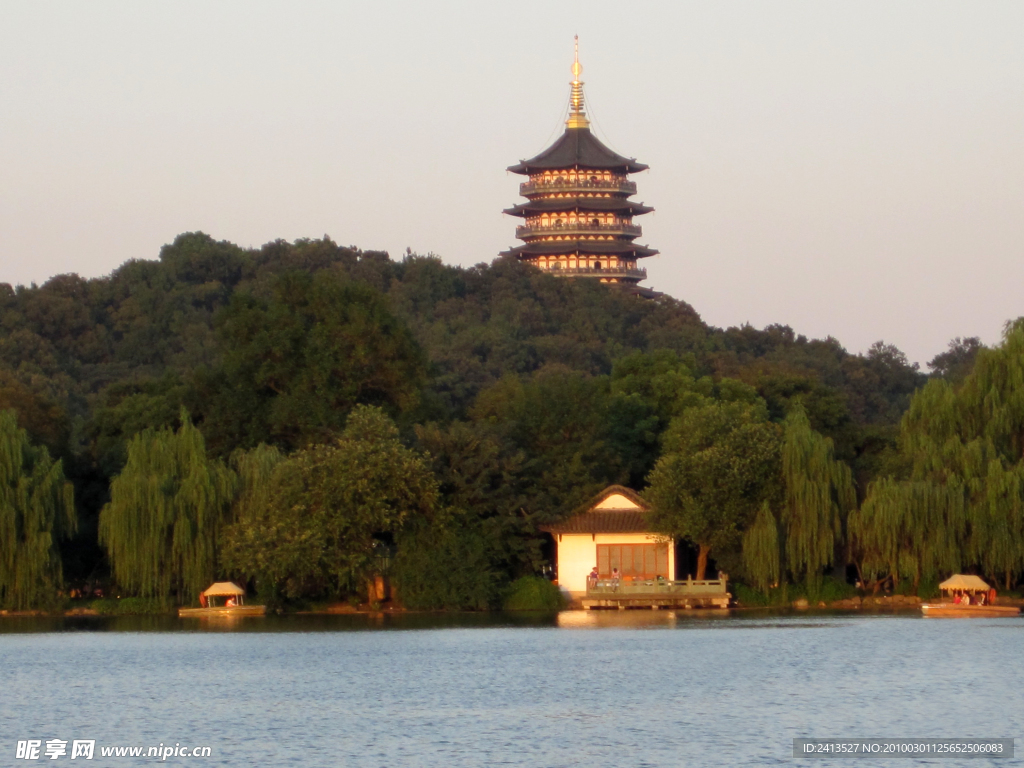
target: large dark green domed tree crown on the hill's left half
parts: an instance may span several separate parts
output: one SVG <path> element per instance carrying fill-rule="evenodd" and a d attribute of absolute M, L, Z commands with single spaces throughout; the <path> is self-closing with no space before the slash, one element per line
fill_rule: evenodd
<path fill-rule="evenodd" d="M 385 298 L 336 272 L 286 272 L 265 300 L 236 295 L 220 336 L 223 362 L 200 375 L 197 406 L 221 452 L 323 442 L 357 403 L 414 407 L 425 374 Z"/>

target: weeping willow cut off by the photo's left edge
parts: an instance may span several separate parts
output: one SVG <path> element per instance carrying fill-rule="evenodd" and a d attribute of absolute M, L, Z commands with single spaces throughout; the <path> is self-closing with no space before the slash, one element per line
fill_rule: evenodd
<path fill-rule="evenodd" d="M 13 411 L 0 411 L 0 605 L 17 610 L 56 597 L 57 541 L 75 526 L 74 490 L 61 463 L 29 441 Z"/>

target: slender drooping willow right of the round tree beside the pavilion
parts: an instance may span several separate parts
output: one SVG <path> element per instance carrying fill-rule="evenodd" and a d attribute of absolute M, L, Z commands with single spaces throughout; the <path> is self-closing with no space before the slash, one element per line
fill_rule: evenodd
<path fill-rule="evenodd" d="M 782 437 L 785 562 L 794 579 L 814 583 L 843 536 L 843 518 L 856 506 L 850 468 L 837 461 L 833 441 L 813 429 L 803 407 L 786 417 Z"/>

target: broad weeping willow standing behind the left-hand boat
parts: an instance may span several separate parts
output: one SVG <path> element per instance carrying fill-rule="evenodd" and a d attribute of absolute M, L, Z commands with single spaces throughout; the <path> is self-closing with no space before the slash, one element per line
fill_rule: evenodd
<path fill-rule="evenodd" d="M 135 435 L 99 514 L 99 541 L 118 583 L 144 597 L 195 598 L 214 577 L 234 484 L 234 474 L 207 457 L 203 434 L 184 411 L 176 432 Z"/>

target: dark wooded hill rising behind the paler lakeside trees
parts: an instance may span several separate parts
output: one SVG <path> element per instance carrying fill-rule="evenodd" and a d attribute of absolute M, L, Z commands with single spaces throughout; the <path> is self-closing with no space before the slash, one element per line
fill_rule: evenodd
<path fill-rule="evenodd" d="M 950 371 L 972 349 L 954 352 Z M 186 233 L 110 276 L 0 284 L 0 410 L 65 459 L 80 547 L 128 438 L 182 407 L 227 457 L 329 442 L 355 404 L 380 406 L 442 480 L 483 440 L 517 478 L 509 504 L 552 517 L 603 483 L 642 486 L 681 381 L 745 385 L 775 421 L 799 398 L 867 479 L 925 378 L 882 343 L 850 354 L 515 261 L 395 261 L 327 239 L 249 250 Z"/>

